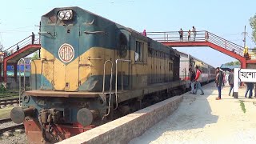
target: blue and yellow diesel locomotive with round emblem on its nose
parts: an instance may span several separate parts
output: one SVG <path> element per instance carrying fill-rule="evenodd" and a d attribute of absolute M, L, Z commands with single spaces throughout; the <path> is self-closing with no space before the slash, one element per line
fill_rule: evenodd
<path fill-rule="evenodd" d="M 181 94 L 178 50 L 79 7 L 42 15 L 22 107 L 28 142 L 53 143 Z"/>

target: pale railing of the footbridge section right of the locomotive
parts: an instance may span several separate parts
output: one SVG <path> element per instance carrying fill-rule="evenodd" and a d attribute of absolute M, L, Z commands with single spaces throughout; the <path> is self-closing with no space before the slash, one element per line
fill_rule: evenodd
<path fill-rule="evenodd" d="M 196 31 L 194 34 L 193 31 L 189 32 L 183 31 L 182 39 L 178 31 L 165 31 L 165 32 L 147 32 L 147 36 L 158 41 L 158 42 L 211 42 L 217 46 L 221 46 L 226 50 L 230 50 L 238 55 L 243 56 L 243 47 L 239 46 L 233 42 L 230 42 L 224 38 L 218 37 L 215 34 L 212 34 L 206 30 Z"/>

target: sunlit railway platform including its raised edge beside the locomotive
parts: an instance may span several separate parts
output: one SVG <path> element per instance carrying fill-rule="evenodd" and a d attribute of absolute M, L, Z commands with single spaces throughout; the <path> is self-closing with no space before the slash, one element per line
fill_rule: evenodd
<path fill-rule="evenodd" d="M 182 94 L 118 118 L 59 143 L 253 143 L 256 140 L 256 98 L 228 96 L 222 100 L 214 82 L 204 95 Z"/>

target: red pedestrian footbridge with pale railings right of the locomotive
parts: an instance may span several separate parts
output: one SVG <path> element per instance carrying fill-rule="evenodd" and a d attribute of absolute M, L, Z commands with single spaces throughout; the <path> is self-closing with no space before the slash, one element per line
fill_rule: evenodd
<path fill-rule="evenodd" d="M 248 57 L 245 57 L 242 46 L 218 37 L 206 30 L 196 31 L 196 34 L 193 34 L 191 31 L 190 37 L 188 31 L 183 31 L 182 38 L 180 38 L 178 31 L 147 32 L 147 36 L 171 47 L 209 46 L 214 50 L 238 59 L 241 62 L 241 68 L 246 68 L 246 63 L 256 64 L 255 54 L 250 53 Z"/>

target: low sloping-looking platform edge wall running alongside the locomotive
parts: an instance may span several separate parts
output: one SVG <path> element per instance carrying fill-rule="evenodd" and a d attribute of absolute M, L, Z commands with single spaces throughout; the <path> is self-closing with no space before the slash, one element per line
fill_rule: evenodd
<path fill-rule="evenodd" d="M 181 95 L 166 99 L 58 143 L 128 143 L 172 114 L 178 108 L 178 104 L 182 102 L 182 98 Z"/>

